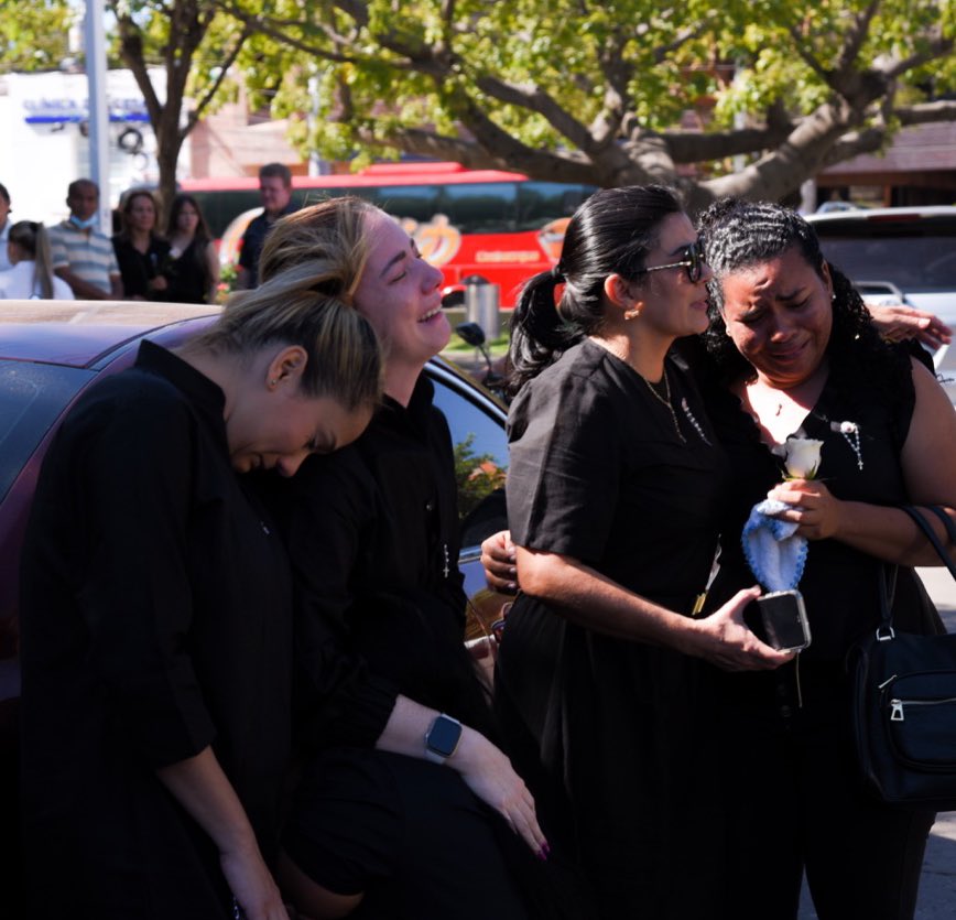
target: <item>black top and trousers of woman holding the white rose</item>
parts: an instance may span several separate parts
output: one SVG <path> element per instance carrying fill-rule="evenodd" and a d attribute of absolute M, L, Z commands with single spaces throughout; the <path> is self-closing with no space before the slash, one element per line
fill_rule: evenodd
<path fill-rule="evenodd" d="M 801 433 L 823 441 L 818 475 L 837 497 L 874 505 L 908 501 L 900 454 L 914 390 L 899 356 L 882 388 L 832 372 Z M 724 519 L 719 604 L 754 581 L 740 546 L 750 509 L 781 481 L 781 461 L 726 388 L 707 387 L 710 419 L 734 466 Z M 859 456 L 840 422 L 859 427 Z M 860 468 L 860 462 L 862 468 Z M 836 540 L 810 543 L 799 588 L 813 642 L 778 671 L 720 674 L 721 764 L 734 802 L 727 917 L 792 920 L 806 869 L 821 920 L 912 917 L 932 814 L 867 797 L 856 775 L 844 668 L 852 642 L 878 623 L 881 563 Z M 935 632 L 938 616 L 912 569 L 900 566 L 893 607 L 899 628 Z"/>

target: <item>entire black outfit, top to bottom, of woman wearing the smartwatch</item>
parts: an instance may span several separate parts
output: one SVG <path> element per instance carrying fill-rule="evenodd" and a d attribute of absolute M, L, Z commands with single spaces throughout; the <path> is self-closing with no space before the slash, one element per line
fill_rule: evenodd
<path fill-rule="evenodd" d="M 305 755 L 284 845 L 330 890 L 365 891 L 356 917 L 520 920 L 512 868 L 530 851 L 512 862 L 500 841 L 524 844 L 449 767 L 374 749 L 399 693 L 493 734 L 463 643 L 452 441 L 432 392 L 423 375 L 408 408 L 385 398 L 354 445 L 273 495 L 296 575 Z"/>

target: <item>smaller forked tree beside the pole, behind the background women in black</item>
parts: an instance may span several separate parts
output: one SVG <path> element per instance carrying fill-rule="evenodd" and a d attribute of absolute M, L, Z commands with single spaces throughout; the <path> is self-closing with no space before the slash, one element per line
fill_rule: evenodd
<path fill-rule="evenodd" d="M 143 94 L 156 136 L 160 194 L 169 206 L 183 142 L 221 100 L 229 68 L 251 28 L 237 26 L 214 0 L 106 0 L 106 6 L 116 17 L 120 57 Z M 166 75 L 162 102 L 150 79 L 155 65 Z M 187 97 L 192 104 L 186 110 Z"/>

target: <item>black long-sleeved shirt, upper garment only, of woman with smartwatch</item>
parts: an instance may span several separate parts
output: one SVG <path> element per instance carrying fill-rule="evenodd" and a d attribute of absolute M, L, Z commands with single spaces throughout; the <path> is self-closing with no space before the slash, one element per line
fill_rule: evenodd
<path fill-rule="evenodd" d="M 487 711 L 469 704 L 452 439 L 432 393 L 423 375 L 408 408 L 387 397 L 286 495 L 307 744 L 373 745 L 399 693 L 475 727 Z"/>

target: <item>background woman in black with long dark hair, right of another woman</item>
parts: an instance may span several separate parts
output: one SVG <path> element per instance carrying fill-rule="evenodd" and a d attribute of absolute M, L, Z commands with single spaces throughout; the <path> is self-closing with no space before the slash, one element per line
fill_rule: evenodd
<path fill-rule="evenodd" d="M 175 303 L 215 303 L 219 284 L 219 256 L 206 218 L 192 195 L 176 195 L 166 224 L 170 243 L 163 300 Z"/>

